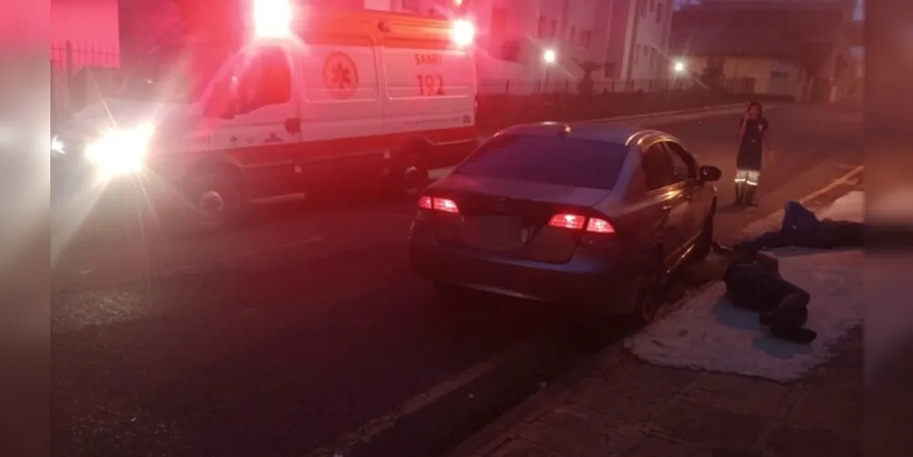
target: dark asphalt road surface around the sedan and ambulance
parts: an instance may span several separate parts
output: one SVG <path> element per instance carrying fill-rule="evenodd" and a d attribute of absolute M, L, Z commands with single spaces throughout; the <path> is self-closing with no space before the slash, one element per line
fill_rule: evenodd
<path fill-rule="evenodd" d="M 721 241 L 861 163 L 861 112 L 768 119 L 776 161 L 740 210 L 738 114 L 661 126 L 723 169 Z M 134 209 L 138 189 L 112 194 L 55 223 L 57 455 L 439 455 L 623 331 L 482 295 L 442 306 L 407 268 L 414 202 L 326 199 L 175 238 Z"/>

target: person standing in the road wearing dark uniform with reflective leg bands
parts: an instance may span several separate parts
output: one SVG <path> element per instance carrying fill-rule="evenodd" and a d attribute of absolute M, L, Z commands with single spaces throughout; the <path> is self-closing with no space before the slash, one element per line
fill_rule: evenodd
<path fill-rule="evenodd" d="M 767 139 L 768 120 L 764 109 L 757 101 L 748 103 L 739 126 L 739 147 L 736 157 L 736 206 L 748 204 L 757 206 L 755 193 L 761 175 L 763 154 L 770 152 Z"/>

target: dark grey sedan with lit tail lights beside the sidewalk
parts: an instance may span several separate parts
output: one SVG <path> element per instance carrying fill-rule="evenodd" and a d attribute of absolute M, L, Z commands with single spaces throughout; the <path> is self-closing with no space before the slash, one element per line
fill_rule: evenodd
<path fill-rule="evenodd" d="M 543 122 L 495 135 L 418 202 L 413 270 L 649 322 L 668 274 L 710 251 L 720 178 L 654 130 Z"/>

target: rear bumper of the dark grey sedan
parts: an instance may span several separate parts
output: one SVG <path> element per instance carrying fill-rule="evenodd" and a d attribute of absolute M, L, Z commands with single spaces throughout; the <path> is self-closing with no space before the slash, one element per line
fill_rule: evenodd
<path fill-rule="evenodd" d="M 439 243 L 430 227 L 416 223 L 410 232 L 409 261 L 416 274 L 435 282 L 544 302 L 598 305 L 617 313 L 633 311 L 633 281 L 610 256 L 581 252 L 561 264 L 508 258 Z"/>

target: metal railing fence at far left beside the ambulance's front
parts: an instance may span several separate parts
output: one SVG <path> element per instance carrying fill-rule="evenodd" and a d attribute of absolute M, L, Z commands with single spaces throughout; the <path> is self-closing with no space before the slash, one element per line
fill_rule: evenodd
<path fill-rule="evenodd" d="M 50 48 L 51 122 L 60 122 L 113 85 L 119 77 L 116 48 L 74 45 Z"/>

